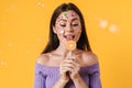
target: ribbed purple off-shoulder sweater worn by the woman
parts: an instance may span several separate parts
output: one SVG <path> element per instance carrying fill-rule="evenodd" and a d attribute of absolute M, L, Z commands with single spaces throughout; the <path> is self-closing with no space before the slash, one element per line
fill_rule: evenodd
<path fill-rule="evenodd" d="M 86 81 L 89 88 L 101 88 L 99 64 L 90 67 L 81 67 L 80 76 Z M 59 77 L 59 67 L 44 66 L 38 63 L 35 64 L 34 88 L 52 88 Z M 72 80 L 65 88 L 76 88 Z"/>

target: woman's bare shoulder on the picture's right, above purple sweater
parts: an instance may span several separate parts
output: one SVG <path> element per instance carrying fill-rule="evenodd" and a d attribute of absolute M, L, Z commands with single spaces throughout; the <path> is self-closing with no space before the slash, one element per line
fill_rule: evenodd
<path fill-rule="evenodd" d="M 91 66 L 98 63 L 98 57 L 92 52 L 82 52 L 82 62 L 85 66 Z"/>

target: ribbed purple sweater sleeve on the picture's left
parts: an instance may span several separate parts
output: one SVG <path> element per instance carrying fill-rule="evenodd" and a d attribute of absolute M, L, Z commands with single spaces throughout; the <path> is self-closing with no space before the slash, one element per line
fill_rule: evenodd
<path fill-rule="evenodd" d="M 43 74 L 43 67 L 38 64 L 35 64 L 34 88 L 46 88 L 45 79 L 46 76 Z"/>

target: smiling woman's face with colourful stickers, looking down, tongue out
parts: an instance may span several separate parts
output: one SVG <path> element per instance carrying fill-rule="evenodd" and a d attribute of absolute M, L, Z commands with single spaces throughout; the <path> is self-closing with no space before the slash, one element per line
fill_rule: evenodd
<path fill-rule="evenodd" d="M 53 30 L 57 34 L 61 42 L 77 42 L 81 34 L 79 15 L 73 10 L 62 12 L 57 18 Z"/>

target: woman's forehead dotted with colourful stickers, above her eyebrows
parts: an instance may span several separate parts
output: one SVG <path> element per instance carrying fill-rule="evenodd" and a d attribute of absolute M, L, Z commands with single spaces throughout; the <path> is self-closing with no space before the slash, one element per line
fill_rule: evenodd
<path fill-rule="evenodd" d="M 65 19 L 65 20 L 78 19 L 79 20 L 79 15 L 75 11 L 68 10 L 68 11 L 62 12 L 58 15 L 57 20 L 61 20 L 61 19 Z"/>

